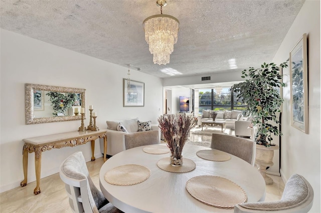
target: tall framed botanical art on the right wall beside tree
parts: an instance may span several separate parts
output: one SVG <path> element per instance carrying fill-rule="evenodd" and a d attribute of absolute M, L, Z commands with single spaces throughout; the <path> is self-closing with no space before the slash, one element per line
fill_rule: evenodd
<path fill-rule="evenodd" d="M 306 33 L 290 51 L 291 125 L 308 133 L 308 85 Z"/>

